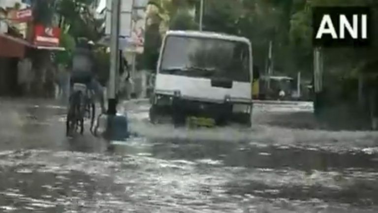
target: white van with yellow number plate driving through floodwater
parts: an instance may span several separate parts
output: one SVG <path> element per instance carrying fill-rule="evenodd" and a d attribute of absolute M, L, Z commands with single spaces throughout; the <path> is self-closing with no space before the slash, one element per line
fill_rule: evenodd
<path fill-rule="evenodd" d="M 243 37 L 168 31 L 163 39 L 150 120 L 201 118 L 251 126 L 252 45 Z"/>

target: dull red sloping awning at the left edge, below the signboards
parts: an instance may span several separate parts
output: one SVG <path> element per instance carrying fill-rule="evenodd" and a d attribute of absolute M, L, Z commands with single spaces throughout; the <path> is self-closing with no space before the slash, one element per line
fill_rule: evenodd
<path fill-rule="evenodd" d="M 0 57 L 23 57 L 25 46 L 30 46 L 26 40 L 0 33 Z"/>

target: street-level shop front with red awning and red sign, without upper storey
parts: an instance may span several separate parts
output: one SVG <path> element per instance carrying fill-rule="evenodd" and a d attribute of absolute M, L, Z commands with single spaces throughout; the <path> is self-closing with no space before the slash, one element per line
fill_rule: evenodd
<path fill-rule="evenodd" d="M 0 96 L 50 97 L 56 71 L 52 53 L 59 47 L 60 29 L 35 25 L 30 39 L 0 33 Z M 23 66 L 30 61 L 30 66 Z M 23 67 L 23 68 L 21 68 Z M 27 91 L 21 85 L 27 84 Z"/>

